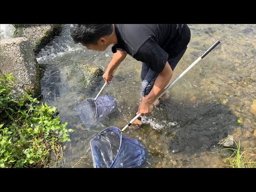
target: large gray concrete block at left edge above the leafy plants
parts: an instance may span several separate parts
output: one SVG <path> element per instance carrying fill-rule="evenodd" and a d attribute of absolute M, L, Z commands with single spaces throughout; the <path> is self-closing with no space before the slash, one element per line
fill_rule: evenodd
<path fill-rule="evenodd" d="M 25 37 L 0 40 L 0 75 L 12 73 L 15 91 L 34 96 L 41 93 L 39 66 L 31 44 Z"/>

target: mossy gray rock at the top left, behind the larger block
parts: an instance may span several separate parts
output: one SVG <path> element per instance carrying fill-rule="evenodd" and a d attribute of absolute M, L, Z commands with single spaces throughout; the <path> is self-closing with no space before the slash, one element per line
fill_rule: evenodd
<path fill-rule="evenodd" d="M 13 37 L 26 37 L 37 54 L 51 38 L 61 32 L 60 24 L 13 24 Z"/>

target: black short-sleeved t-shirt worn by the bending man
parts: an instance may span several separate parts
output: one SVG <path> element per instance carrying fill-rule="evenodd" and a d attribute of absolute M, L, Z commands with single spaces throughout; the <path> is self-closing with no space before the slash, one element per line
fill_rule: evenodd
<path fill-rule="evenodd" d="M 161 73 L 166 61 L 178 55 L 190 41 L 186 24 L 115 24 L 117 44 L 112 51 L 122 50 L 134 59 L 149 64 Z"/>

